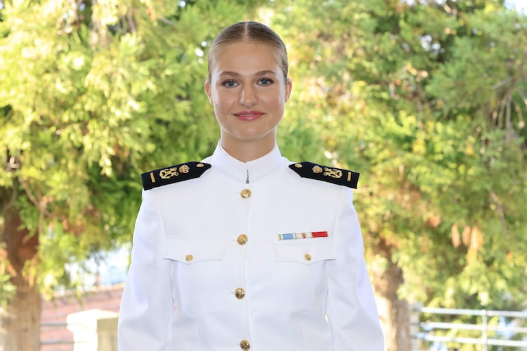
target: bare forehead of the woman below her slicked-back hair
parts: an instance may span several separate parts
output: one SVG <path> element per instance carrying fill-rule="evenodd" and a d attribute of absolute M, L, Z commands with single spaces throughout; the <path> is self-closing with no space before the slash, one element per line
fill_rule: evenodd
<path fill-rule="evenodd" d="M 213 75 L 222 71 L 250 74 L 262 70 L 279 72 L 279 55 L 275 49 L 261 42 L 233 42 L 220 48 L 211 57 Z"/>

